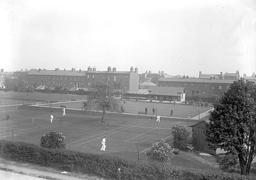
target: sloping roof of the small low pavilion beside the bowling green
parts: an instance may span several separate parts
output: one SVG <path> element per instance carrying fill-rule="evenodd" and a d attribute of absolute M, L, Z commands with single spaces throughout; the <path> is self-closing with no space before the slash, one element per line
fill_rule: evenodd
<path fill-rule="evenodd" d="M 180 96 L 180 93 L 184 93 L 184 87 L 149 86 L 148 92 L 150 95 Z"/>

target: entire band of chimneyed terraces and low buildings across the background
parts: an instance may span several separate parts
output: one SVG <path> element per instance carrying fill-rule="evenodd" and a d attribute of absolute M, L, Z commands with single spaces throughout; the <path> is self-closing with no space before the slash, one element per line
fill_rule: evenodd
<path fill-rule="evenodd" d="M 76 70 L 26 70 L 15 71 L 14 77 L 24 80 L 33 89 L 49 87 L 65 87 L 70 91 L 84 89 L 88 91 L 95 84 L 105 84 L 113 91 L 120 91 L 130 96 L 144 96 L 154 100 L 184 101 L 196 94 L 200 98 L 220 97 L 227 92 L 234 80 L 241 79 L 239 71 L 236 73 L 202 74 L 199 77 L 188 75 L 172 77 L 159 71 L 159 73 L 138 73 L 138 68 L 131 67 L 129 71 L 117 71 L 108 67 L 107 71 L 97 71 L 90 66 L 86 71 Z M 256 82 L 256 77 L 243 79 Z M 145 86 L 146 85 L 146 86 Z"/>

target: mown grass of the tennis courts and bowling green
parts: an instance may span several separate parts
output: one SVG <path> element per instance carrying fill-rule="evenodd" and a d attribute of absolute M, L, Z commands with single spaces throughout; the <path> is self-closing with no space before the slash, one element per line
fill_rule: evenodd
<path fill-rule="evenodd" d="M 40 138 L 49 131 L 60 131 L 65 135 L 66 148 L 72 150 L 83 151 L 94 154 L 109 154 L 129 160 L 138 160 L 137 147 L 140 153 L 140 160 L 146 161 L 145 152 L 152 146 L 153 142 L 166 139 L 172 142 L 172 134 L 170 128 L 176 121 L 172 119 L 161 119 L 160 123 L 149 118 L 130 117 L 130 116 L 106 116 L 106 122 L 109 123 L 109 129 L 106 130 L 106 123 L 100 122 L 100 116 L 85 115 L 79 111 L 66 111 L 66 116 L 62 116 L 61 109 L 51 109 L 54 115 L 54 121 L 50 124 L 50 109 L 29 110 L 26 107 L 19 107 L 12 103 L 13 99 L 4 99 L 10 101 L 12 106 L 2 105 L 0 108 L 0 138 L 6 140 L 29 142 L 40 144 Z M 3 101 L 3 98 L 1 98 Z M 13 101 L 16 101 L 14 99 Z M 40 103 L 40 102 L 39 102 Z M 76 103 L 72 101 L 72 103 Z M 67 103 L 67 107 L 72 103 Z M 81 103 L 81 102 L 77 102 Z M 122 102 L 120 102 L 122 103 Z M 54 103 L 52 104 L 54 106 Z M 58 104 L 59 105 L 59 104 Z M 176 105 L 163 103 L 147 103 L 127 101 L 124 107 L 131 113 L 138 114 L 143 111 L 145 106 L 151 114 L 151 107 L 157 107 L 159 114 L 165 113 L 169 116 L 169 110 L 172 107 L 174 116 L 187 117 L 198 113 L 198 109 L 204 111 L 206 109 L 198 107 L 185 107 L 184 105 Z M 9 121 L 6 121 L 6 114 L 10 115 Z M 190 115 L 191 114 L 191 115 Z M 188 121 L 188 126 L 196 121 Z M 13 136 L 14 134 L 14 136 Z M 106 151 L 100 151 L 101 140 L 106 136 Z M 175 156 L 173 161 L 176 165 L 185 165 L 186 167 L 194 167 L 189 162 L 193 158 L 186 154 Z M 200 169 L 211 168 L 200 162 L 196 162 L 196 166 Z"/>

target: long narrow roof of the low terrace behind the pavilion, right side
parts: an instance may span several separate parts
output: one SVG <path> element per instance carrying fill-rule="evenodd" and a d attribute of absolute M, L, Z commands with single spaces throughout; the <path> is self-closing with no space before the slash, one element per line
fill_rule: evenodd
<path fill-rule="evenodd" d="M 229 79 L 195 79 L 195 78 L 172 78 L 172 77 L 161 77 L 158 82 L 202 82 L 202 83 L 216 83 L 216 84 L 232 84 L 235 80 Z"/>

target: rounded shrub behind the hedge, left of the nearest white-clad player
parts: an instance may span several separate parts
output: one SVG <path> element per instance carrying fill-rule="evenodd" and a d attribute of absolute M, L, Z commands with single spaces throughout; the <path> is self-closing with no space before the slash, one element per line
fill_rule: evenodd
<path fill-rule="evenodd" d="M 45 148 L 63 149 L 65 136 L 57 131 L 51 131 L 41 137 L 40 146 Z"/>

